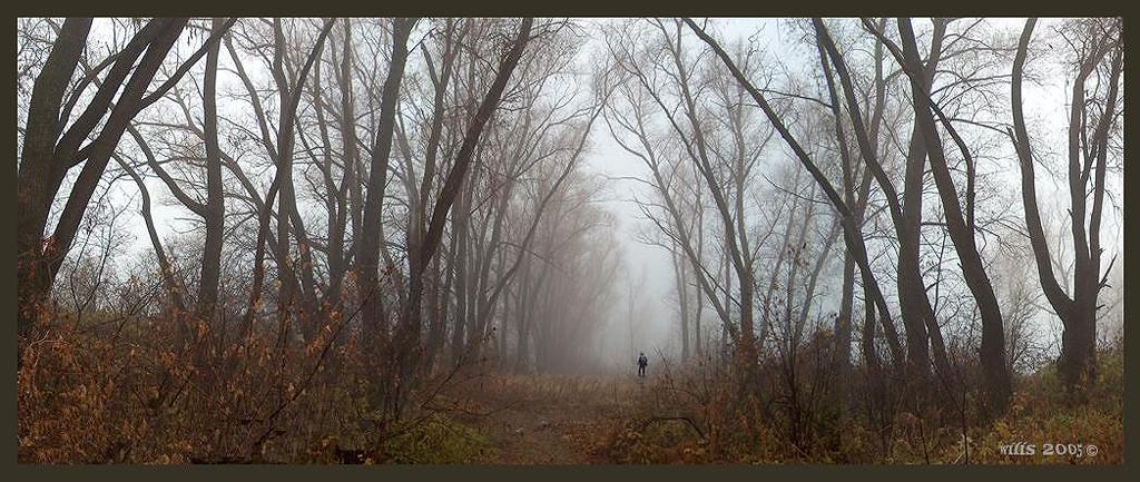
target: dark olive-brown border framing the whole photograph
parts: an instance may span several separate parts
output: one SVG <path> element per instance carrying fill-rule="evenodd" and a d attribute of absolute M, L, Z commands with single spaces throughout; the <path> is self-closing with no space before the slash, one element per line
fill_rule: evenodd
<path fill-rule="evenodd" d="M 26 0 L 15 0 L 6 8 L 14 9 L 11 18 L 7 21 L 10 28 L 5 36 L 7 51 L 15 51 L 15 26 L 16 17 L 24 16 L 63 16 L 63 15 L 97 15 L 97 16 L 162 16 L 162 15 L 288 15 L 288 16 L 406 16 L 406 15 L 451 15 L 451 16 L 595 16 L 595 17 L 622 17 L 622 16 L 857 16 L 857 15 L 938 15 L 938 16 L 1123 16 L 1125 17 L 1125 44 L 1135 44 L 1135 35 L 1126 8 L 1123 1 L 1068 1 L 1068 2 L 1045 2 L 1026 0 L 955 0 L 944 2 L 927 1 L 902 1 L 876 0 L 850 1 L 850 0 L 819 0 L 811 3 L 795 1 L 682 1 L 682 0 L 638 0 L 638 1 L 597 1 L 597 0 L 575 0 L 564 3 L 539 2 L 534 0 L 496 0 L 488 1 L 472 0 L 440 0 L 432 2 L 417 1 L 361 1 L 329 3 L 329 2 L 303 2 L 303 1 L 271 1 L 271 0 L 244 0 L 244 1 L 217 1 L 217 0 L 194 0 L 187 2 L 160 2 L 154 0 L 139 1 L 91 1 L 91 0 L 47 0 L 31 2 Z M 1137 5 L 1133 3 L 1132 8 Z M 5 63 L 6 75 L 11 79 L 15 71 L 15 62 Z M 1140 91 L 1129 89 L 1130 77 L 1135 73 L 1133 65 L 1125 63 L 1125 111 L 1130 111 L 1135 104 L 1135 96 Z M 1134 81 L 1131 83 L 1135 83 Z M 9 84 L 9 89 L 14 89 Z M 8 124 L 7 132 L 14 132 L 15 96 L 9 95 L 3 98 L 6 112 L 3 123 Z M 1125 138 L 1137 139 L 1135 125 L 1125 125 L 1127 131 Z M 1133 134 L 1133 136 L 1129 136 Z M 9 137 L 5 144 L 7 152 L 15 152 L 15 138 Z M 1135 149 L 1125 144 L 1125 155 Z M 1012 162 L 1012 161 L 1011 161 Z M 1137 183 L 1140 180 L 1140 171 L 1125 171 L 1125 183 Z M 13 160 L 6 174 L 0 175 L 0 190 L 9 193 L 9 199 L 16 193 L 16 162 Z M 1130 180 L 1134 182 L 1129 182 Z M 1140 183 L 1138 183 L 1140 186 Z M 1129 220 L 1131 215 L 1129 207 L 1135 204 L 1134 199 L 1125 196 L 1125 245 L 1133 245 L 1131 232 L 1126 228 L 1134 224 Z M 15 226 L 15 203 L 0 203 L 0 217 L 6 221 L 0 226 Z M 15 251 L 14 232 L 9 232 L 3 238 L 3 251 L 9 253 Z M 1137 260 L 1125 259 L 1125 278 L 1127 272 L 1135 271 Z M 499 482 L 513 481 L 562 481 L 562 480 L 652 480 L 654 482 L 686 481 L 686 482 L 711 482 L 720 480 L 739 481 L 767 481 L 767 480 L 874 480 L 874 481 L 954 481 L 975 482 L 976 477 L 1004 479 L 1004 480 L 1034 480 L 1048 481 L 1100 481 L 1100 480 L 1135 480 L 1129 477 L 1129 473 L 1138 472 L 1134 465 L 1138 464 L 1135 447 L 1135 422 L 1138 407 L 1132 400 L 1135 393 L 1125 390 L 1124 411 L 1127 420 L 1125 424 L 1125 440 L 1133 443 L 1125 443 L 1125 463 L 1118 466 L 887 466 L 887 465 L 791 465 L 791 466 L 741 466 L 741 465 L 689 465 L 689 466 L 487 466 L 487 465 L 459 465 L 459 466 L 38 466 L 18 465 L 16 463 L 17 439 L 16 439 L 16 283 L 15 256 L 6 258 L 3 267 L 9 273 L 0 278 L 0 300 L 2 300 L 2 312 L 8 313 L 2 328 L 5 349 L 0 369 L 9 374 L 8 382 L 0 387 L 0 411 L 2 411 L 2 448 L 7 452 L 6 464 L 0 472 L 0 476 L 6 480 L 38 481 L 38 480 L 90 480 L 90 481 L 228 481 L 228 480 L 271 480 L 284 481 L 309 481 L 309 480 L 495 480 Z M 1125 288 L 1125 299 L 1129 294 L 1135 293 L 1134 286 Z M 1124 309 L 1125 322 L 1130 319 L 1127 307 Z M 1125 345 L 1135 345 L 1135 329 L 1125 330 Z M 1125 370 L 1140 374 L 1137 367 L 1137 357 L 1125 357 Z M 1135 392 L 1133 387 L 1131 392 Z M 11 479 L 9 479 L 11 477 Z"/>

